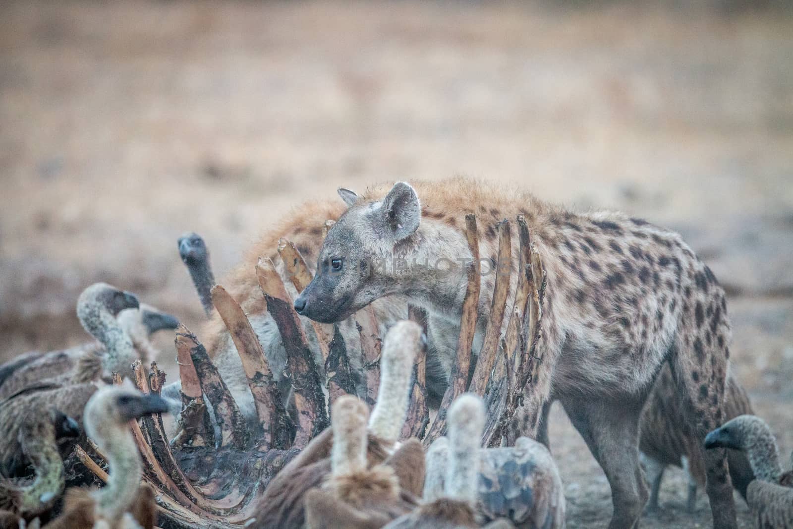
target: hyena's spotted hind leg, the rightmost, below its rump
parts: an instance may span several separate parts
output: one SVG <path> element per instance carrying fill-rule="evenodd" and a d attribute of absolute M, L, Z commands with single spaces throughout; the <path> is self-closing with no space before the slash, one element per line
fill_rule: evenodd
<path fill-rule="evenodd" d="M 707 270 L 710 272 L 710 270 Z M 691 285 L 683 304 L 676 353 L 671 359 L 674 375 L 688 424 L 684 434 L 700 450 L 707 475 L 706 491 L 711 502 L 713 525 L 718 529 L 737 529 L 732 483 L 726 451 L 704 450 L 708 431 L 724 422 L 724 393 L 730 357 L 730 323 L 722 289 L 703 275 Z"/>

